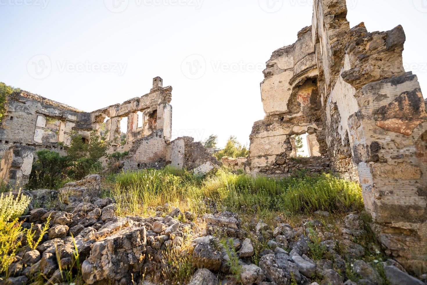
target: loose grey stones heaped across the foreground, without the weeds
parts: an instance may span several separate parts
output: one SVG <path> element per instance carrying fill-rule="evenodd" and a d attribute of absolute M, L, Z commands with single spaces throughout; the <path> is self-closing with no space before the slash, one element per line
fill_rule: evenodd
<path fill-rule="evenodd" d="M 82 187 L 86 183 L 93 183 L 88 179 L 84 181 Z M 88 193 L 91 192 L 89 187 L 85 189 Z M 182 214 L 178 208 L 169 213 L 157 211 L 157 215 L 153 217 L 117 217 L 113 210 L 114 201 L 107 205 L 103 202 L 97 203 L 100 207 L 82 202 L 82 197 L 90 196 L 88 193 L 70 196 L 70 204 L 61 206 L 68 208 L 73 204 L 79 205 L 78 208 L 69 207 L 70 212 L 62 209 L 33 209 L 26 216 L 33 220 L 38 228 L 41 228 L 49 216 L 51 223 L 56 221 L 57 224 L 51 224 L 49 234 L 43 237 L 42 243 L 35 250 L 24 248 L 23 252 L 18 253 L 22 258 L 9 266 L 11 276 L 5 284 L 25 284 L 24 282 L 39 272 L 43 273 L 50 283 L 64 282 L 59 264 L 62 268 L 73 264 L 75 247 L 79 252 L 82 279 L 87 284 L 132 284 L 132 280 L 140 280 L 141 272 L 145 272 L 145 278 L 149 279 L 150 284 L 168 284 L 171 280 L 164 279 L 163 270 L 165 255 L 170 250 L 175 250 L 181 256 L 188 255 L 190 264 L 198 269 L 188 284 L 218 284 L 219 279 L 225 280 L 226 276 L 229 277 L 229 262 L 232 260 L 240 266 L 238 274 L 244 285 L 268 284 L 266 282 L 288 284 L 292 280 L 297 284 L 311 284 L 314 277 L 322 280 L 319 283 L 321 285 L 342 285 L 343 281 L 346 281 L 345 284 L 352 284 L 348 280 L 342 280 L 338 274 L 346 270 L 346 264 L 335 251 L 337 244 L 341 244 L 343 252 L 348 255 L 345 257 L 350 258 L 348 260 L 354 260 L 352 270 L 359 276 L 360 284 L 381 284 L 383 281 L 376 267 L 358 259 L 365 255 L 364 250 L 361 250 L 363 247 L 349 240 L 356 238 L 357 229 L 362 225 L 358 215 L 348 214 L 339 223 L 349 229 L 348 233 L 341 234 L 341 240 L 333 236 L 330 240 L 321 241 L 328 254 L 333 256 L 333 261 L 313 261 L 307 256 L 310 239 L 306 233 L 311 235 L 311 232 L 305 226 L 321 225 L 316 220 L 303 220 L 301 226 L 294 229 L 288 224 L 278 223 L 276 229 L 280 230 L 276 230 L 276 233 L 280 232 L 282 235 L 274 236 L 273 231 L 268 230 L 271 227 L 267 223 L 254 221 L 245 225 L 251 229 L 246 232 L 241 227 L 237 213 L 217 212 L 203 216 L 207 229 L 202 229 L 193 222 L 202 222 L 200 217 L 195 214 Z M 91 199 L 99 201 L 96 197 Z M 169 207 L 165 205 L 161 208 Z M 90 225 L 85 220 L 89 213 L 95 220 L 94 223 L 89 223 Z M 185 221 L 179 221 L 173 216 L 184 218 Z M 71 227 L 68 228 L 67 224 Z M 211 234 L 208 235 L 208 232 Z M 318 234 L 323 237 L 327 235 L 326 232 Z M 225 250 L 219 240 L 223 235 L 228 237 L 228 250 Z M 254 264 L 252 260 L 255 255 L 255 241 L 267 245 L 259 253 L 258 264 Z M 189 247 L 182 250 L 185 244 Z M 381 264 L 390 284 L 424 284 L 408 275 L 397 261 L 390 259 Z M 234 284 L 232 279 L 224 282 Z"/>

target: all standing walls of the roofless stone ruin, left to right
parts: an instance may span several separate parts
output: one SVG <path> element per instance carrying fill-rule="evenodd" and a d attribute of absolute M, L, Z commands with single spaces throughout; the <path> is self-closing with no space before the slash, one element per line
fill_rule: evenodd
<path fill-rule="evenodd" d="M 359 182 L 386 252 L 408 270 L 427 272 L 427 113 L 417 76 L 403 67 L 401 26 L 351 28 L 345 0 L 314 0 L 312 25 L 272 53 L 261 83 L 266 114 L 254 123 L 247 159 L 223 159 L 252 175 L 331 171 Z M 129 150 L 123 169 L 174 167 L 205 172 L 219 162 L 192 138 L 171 140 L 172 88 L 162 79 L 142 97 L 82 112 L 26 91 L 10 94 L 0 123 L 0 176 L 23 185 L 35 150 L 63 153 L 73 132 L 93 130 Z M 139 124 L 138 118 L 143 117 Z M 127 119 L 126 143 L 120 121 Z M 296 157 L 307 134 L 309 157 Z"/>

